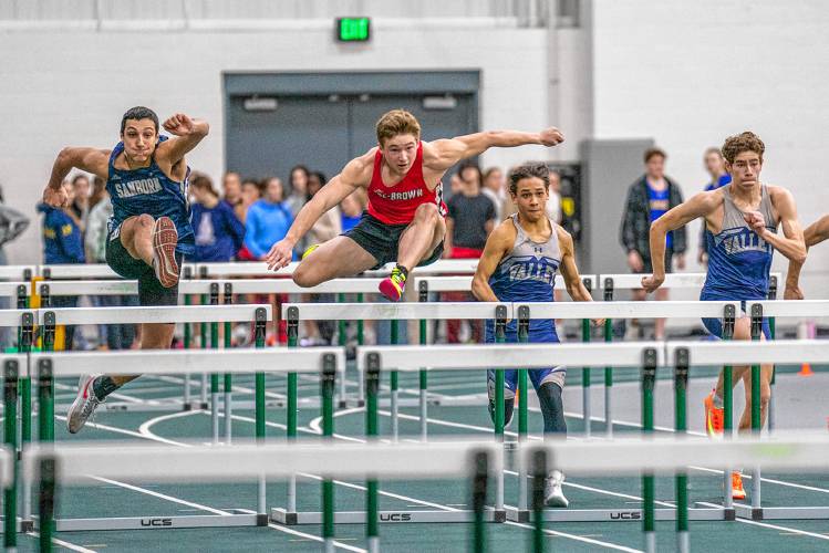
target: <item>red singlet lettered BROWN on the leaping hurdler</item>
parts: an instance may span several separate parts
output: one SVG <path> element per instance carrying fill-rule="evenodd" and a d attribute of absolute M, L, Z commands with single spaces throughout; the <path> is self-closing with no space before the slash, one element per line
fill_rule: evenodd
<path fill-rule="evenodd" d="M 417 144 L 417 156 L 403 180 L 394 186 L 383 184 L 381 168 L 383 154 L 374 156 L 374 173 L 369 185 L 369 215 L 386 225 L 408 225 L 422 204 L 436 204 L 442 217 L 446 216 L 443 185 L 429 190 L 423 180 L 423 143 Z"/>

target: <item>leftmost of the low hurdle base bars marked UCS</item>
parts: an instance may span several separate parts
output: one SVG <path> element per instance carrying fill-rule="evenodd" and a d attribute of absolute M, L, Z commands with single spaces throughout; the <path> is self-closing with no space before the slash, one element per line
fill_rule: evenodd
<path fill-rule="evenodd" d="M 268 525 L 267 514 L 193 514 L 175 517 L 113 517 L 95 519 L 56 519 L 58 532 L 101 530 L 168 530 L 182 528 L 234 528 Z M 39 528 L 34 521 L 34 529 Z"/>

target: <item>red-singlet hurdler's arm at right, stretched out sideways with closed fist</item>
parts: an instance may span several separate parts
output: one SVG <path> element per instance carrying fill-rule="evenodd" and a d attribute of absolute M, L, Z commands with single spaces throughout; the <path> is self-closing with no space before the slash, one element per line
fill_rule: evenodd
<path fill-rule="evenodd" d="M 424 165 L 432 170 L 444 171 L 462 159 L 475 157 L 489 148 L 512 148 L 527 144 L 552 147 L 562 142 L 564 135 L 556 127 L 540 133 L 487 131 L 428 143 L 424 148 Z"/>

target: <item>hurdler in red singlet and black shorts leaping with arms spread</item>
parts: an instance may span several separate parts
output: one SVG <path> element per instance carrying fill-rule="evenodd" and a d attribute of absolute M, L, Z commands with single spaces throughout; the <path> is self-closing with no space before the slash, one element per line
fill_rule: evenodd
<path fill-rule="evenodd" d="M 396 262 L 380 292 L 392 301 L 403 295 L 410 269 L 433 263 L 443 253 L 446 206 L 441 178 L 462 159 L 490 147 L 526 144 L 555 146 L 561 133 L 497 131 L 431 143 L 421 140 L 421 125 L 408 112 L 393 109 L 376 125 L 377 147 L 352 159 L 297 216 L 288 234 L 271 248 L 267 261 L 278 270 L 291 260 L 297 241 L 317 220 L 357 188 L 367 189 L 369 207 L 356 227 L 312 247 L 293 272 L 301 286 Z"/>

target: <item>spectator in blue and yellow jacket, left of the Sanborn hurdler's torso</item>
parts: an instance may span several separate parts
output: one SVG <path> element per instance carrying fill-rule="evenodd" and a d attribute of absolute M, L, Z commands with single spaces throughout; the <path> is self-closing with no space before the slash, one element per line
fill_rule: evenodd
<path fill-rule="evenodd" d="M 89 184 L 89 180 L 87 180 Z M 64 180 L 69 208 L 53 208 L 46 204 L 38 204 L 38 211 L 43 213 L 43 262 L 46 264 L 83 263 L 83 238 L 80 220 L 72 210 L 75 200 L 75 189 Z M 54 295 L 51 298 L 52 307 L 77 306 L 76 295 Z M 66 326 L 65 348 L 72 348 L 75 334 L 74 326 Z"/>

